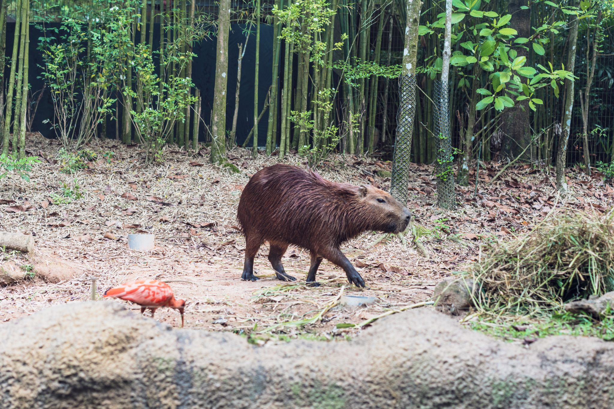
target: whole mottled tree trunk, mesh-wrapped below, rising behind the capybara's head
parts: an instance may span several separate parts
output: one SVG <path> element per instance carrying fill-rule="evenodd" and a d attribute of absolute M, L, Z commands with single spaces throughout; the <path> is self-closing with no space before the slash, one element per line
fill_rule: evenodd
<path fill-rule="evenodd" d="M 413 123 L 416 115 L 416 64 L 418 57 L 419 0 L 408 0 L 405 26 L 405 48 L 399 85 L 397 138 L 392 159 L 390 193 L 403 205 L 407 204 L 410 179 L 410 153 Z"/>

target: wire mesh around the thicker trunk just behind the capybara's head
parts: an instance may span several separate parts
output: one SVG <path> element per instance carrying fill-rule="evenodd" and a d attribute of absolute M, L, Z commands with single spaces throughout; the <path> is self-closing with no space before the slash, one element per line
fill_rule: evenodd
<path fill-rule="evenodd" d="M 390 194 L 407 205 L 410 184 L 411 137 L 416 118 L 416 75 L 406 74 L 399 78 L 399 105 L 397 113 L 397 138 L 392 155 L 392 181 Z"/>

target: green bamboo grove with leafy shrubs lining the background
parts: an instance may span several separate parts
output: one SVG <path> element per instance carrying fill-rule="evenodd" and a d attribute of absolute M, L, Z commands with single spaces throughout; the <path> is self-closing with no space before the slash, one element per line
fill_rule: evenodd
<path fill-rule="evenodd" d="M 433 81 L 441 71 L 445 7 L 445 1 L 421 4 L 413 162 L 438 157 Z M 467 185 L 478 155 L 538 166 L 579 163 L 587 172 L 612 162 L 612 7 L 608 0 L 453 0 L 449 117 L 457 183 Z M 257 155 L 258 145 L 263 155 L 297 153 L 309 165 L 332 151 L 391 158 L 407 18 L 402 0 L 53 6 L 3 0 L 0 10 L 0 50 L 7 56 L 0 69 L 3 156 L 25 156 L 37 104 L 26 78 L 35 71 L 54 109 L 36 126 L 53 128 L 66 149 L 114 137 L 144 145 L 149 162 L 166 143 L 193 153 L 210 147 L 218 163 L 236 146 Z M 263 25 L 272 36 L 261 35 Z M 44 34 L 30 39 L 28 26 Z M 7 27 L 14 30 L 10 50 Z M 244 42 L 230 44 L 236 30 Z M 193 82 L 193 47 L 202 42 L 215 42 L 212 101 L 203 101 Z M 230 72 L 230 47 L 237 46 L 238 70 Z M 29 47 L 44 64 L 28 66 Z M 255 61 L 246 66 L 248 47 L 255 47 Z M 272 72 L 258 70 L 263 47 L 272 50 Z M 251 131 L 239 134 L 245 70 L 255 71 L 254 108 Z M 230 104 L 235 109 L 227 112 Z M 261 121 L 266 136 L 254 126 Z M 557 183 L 562 188 L 564 180 Z"/>

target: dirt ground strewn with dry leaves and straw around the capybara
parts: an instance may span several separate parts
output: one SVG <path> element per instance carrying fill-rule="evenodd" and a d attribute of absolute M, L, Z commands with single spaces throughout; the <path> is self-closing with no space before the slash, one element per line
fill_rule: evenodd
<path fill-rule="evenodd" d="M 317 276 L 323 285 L 312 288 L 304 281 L 309 254 L 300 248 L 289 248 L 283 259 L 296 282 L 284 283 L 274 277 L 266 245 L 255 260 L 260 280 L 240 278 L 245 242 L 233 227 L 236 206 L 249 177 L 279 162 L 277 156 L 252 159 L 249 151 L 235 148 L 228 153 L 229 162 L 239 169 L 233 173 L 208 164 L 206 150 L 191 156 L 168 148 L 155 166 L 143 166 L 139 147 L 106 140 L 88 146 L 98 155 L 96 160 L 70 174 L 62 172 L 61 160 L 56 161 L 59 148 L 56 140 L 29 134 L 26 150 L 38 155 L 42 163 L 29 172 L 30 182 L 11 172 L 0 180 L 0 227 L 33 234 L 36 262 L 63 263 L 53 275 L 37 273 L 29 278 L 27 266 L 34 264 L 30 256 L 8 250 L 2 254 L 0 264 L 12 269 L 21 266 L 26 278 L 0 288 L 0 324 L 51 305 L 90 299 L 91 277 L 97 278 L 97 299 L 107 288 L 126 281 L 156 278 L 166 281 L 177 298 L 186 300 L 187 328 L 250 332 L 281 324 L 275 332 L 290 337 L 356 334 L 356 329 L 337 329 L 336 324 L 360 323 L 427 300 L 441 278 L 480 256 L 481 243 L 513 239 L 551 211 L 591 208 L 605 212 L 614 194 L 599 175 L 591 178 L 580 169 L 570 169 L 570 194 L 558 197 L 553 170 L 528 165 L 512 166 L 488 185 L 503 167 L 492 162 L 480 169 L 477 197 L 473 197 L 473 186 L 457 187 L 459 206 L 448 212 L 434 205 L 432 167 L 415 165 L 408 208 L 429 258 L 419 256 L 413 245 L 404 249 L 396 236 L 377 242 L 381 234 L 365 232 L 346 243 L 343 251 L 365 278 L 367 289 L 350 287 L 343 270 L 327 261 L 322 262 Z M 295 155 L 283 162 L 305 166 Z M 390 167 L 371 158 L 335 156 L 317 171 L 335 182 L 374 183 L 388 189 L 389 178 L 378 172 Z M 19 205 L 23 207 L 15 208 Z M 155 234 L 155 249 L 129 250 L 126 236 L 133 232 Z M 453 242 L 451 237 L 460 240 Z M 375 297 L 375 303 L 361 307 L 338 304 L 318 323 L 283 325 L 315 316 L 342 290 L 344 295 Z M 131 307 L 138 310 L 136 305 Z M 155 319 L 174 327 L 181 324 L 179 313 L 168 308 L 160 308 Z"/>

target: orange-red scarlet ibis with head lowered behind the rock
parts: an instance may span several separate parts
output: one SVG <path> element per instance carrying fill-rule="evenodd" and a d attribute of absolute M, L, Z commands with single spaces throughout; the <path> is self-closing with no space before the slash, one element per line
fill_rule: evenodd
<path fill-rule="evenodd" d="M 152 318 L 158 307 L 177 308 L 181 314 L 181 327 L 184 326 L 185 301 L 176 300 L 173 289 L 163 281 L 139 280 L 134 283 L 125 283 L 119 287 L 107 289 L 104 297 L 115 297 L 139 304 L 141 314 L 149 308 Z"/>

